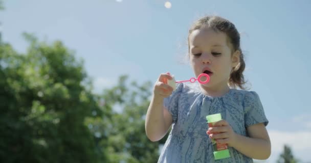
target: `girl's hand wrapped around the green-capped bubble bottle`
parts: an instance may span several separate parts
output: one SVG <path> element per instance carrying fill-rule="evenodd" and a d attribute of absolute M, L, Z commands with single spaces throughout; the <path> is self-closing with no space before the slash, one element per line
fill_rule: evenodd
<path fill-rule="evenodd" d="M 219 144 L 228 144 L 228 146 L 233 147 L 236 142 L 237 134 L 225 120 L 214 123 L 213 127 L 209 127 L 206 133 Z"/>

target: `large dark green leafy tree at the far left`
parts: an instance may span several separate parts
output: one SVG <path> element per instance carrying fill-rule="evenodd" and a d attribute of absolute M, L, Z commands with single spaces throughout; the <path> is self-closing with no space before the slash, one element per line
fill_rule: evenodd
<path fill-rule="evenodd" d="M 99 162 L 84 120 L 100 110 L 83 62 L 60 41 L 25 37 L 24 55 L 0 45 L 0 162 Z"/>

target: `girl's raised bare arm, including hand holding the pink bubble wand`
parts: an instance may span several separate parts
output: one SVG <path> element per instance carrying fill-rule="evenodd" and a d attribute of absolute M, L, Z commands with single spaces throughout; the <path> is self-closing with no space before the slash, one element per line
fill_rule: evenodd
<path fill-rule="evenodd" d="M 166 79 L 171 79 L 168 74 L 161 74 L 154 86 L 153 96 L 148 107 L 145 121 L 145 130 L 150 141 L 161 140 L 173 122 L 172 115 L 163 106 L 165 97 L 172 94 L 172 88 L 165 84 Z"/>

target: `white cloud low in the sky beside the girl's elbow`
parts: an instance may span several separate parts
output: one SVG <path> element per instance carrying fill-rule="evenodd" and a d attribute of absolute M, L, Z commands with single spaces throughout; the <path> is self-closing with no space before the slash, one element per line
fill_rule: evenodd
<path fill-rule="evenodd" d="M 280 153 L 283 151 L 284 145 L 291 147 L 294 157 L 305 161 L 311 161 L 311 155 L 308 154 L 311 151 L 311 131 L 278 131 L 269 130 L 269 135 L 272 145 L 272 153 L 268 162 L 276 162 Z"/>

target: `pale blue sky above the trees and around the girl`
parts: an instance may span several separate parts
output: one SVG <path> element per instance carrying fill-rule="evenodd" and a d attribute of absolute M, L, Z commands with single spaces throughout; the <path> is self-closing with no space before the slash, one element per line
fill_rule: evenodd
<path fill-rule="evenodd" d="M 177 80 L 193 77 L 187 33 L 197 18 L 214 14 L 231 20 L 241 33 L 245 76 L 270 120 L 274 162 L 284 143 L 311 161 L 311 1 L 4 1 L 3 40 L 19 52 L 23 32 L 40 40 L 61 40 L 83 58 L 96 92 L 128 74 L 138 82 L 156 81 L 171 72 Z M 299 140 L 299 142 L 297 142 Z"/>

